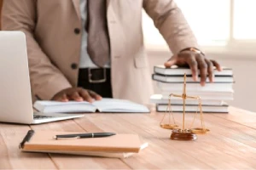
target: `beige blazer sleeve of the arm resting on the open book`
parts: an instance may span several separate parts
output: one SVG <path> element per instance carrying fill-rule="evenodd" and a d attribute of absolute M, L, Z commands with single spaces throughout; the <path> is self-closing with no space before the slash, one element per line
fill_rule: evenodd
<path fill-rule="evenodd" d="M 5 0 L 2 9 L 2 30 L 23 31 L 32 92 L 40 99 L 52 99 L 62 89 L 70 88 L 67 78 L 49 60 L 40 48 L 33 32 L 37 22 L 36 0 Z"/>

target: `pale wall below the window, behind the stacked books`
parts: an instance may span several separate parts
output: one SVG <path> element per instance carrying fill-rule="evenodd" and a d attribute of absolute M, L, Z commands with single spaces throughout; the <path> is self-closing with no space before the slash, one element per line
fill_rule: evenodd
<path fill-rule="evenodd" d="M 148 52 L 150 68 L 153 72 L 154 65 L 162 65 L 171 54 L 166 52 Z M 246 58 L 246 56 L 224 56 L 223 54 L 208 54 L 209 58 L 234 71 L 236 83 L 234 84 L 235 99 L 229 102 L 230 105 L 256 112 L 256 56 Z M 155 88 L 154 92 L 159 93 Z"/>

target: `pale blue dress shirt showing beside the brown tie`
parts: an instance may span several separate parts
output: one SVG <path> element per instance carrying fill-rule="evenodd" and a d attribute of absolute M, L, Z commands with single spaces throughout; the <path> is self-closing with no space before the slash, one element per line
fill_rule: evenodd
<path fill-rule="evenodd" d="M 85 23 L 87 20 L 87 14 L 86 14 L 86 5 L 87 0 L 80 0 L 80 15 L 82 20 L 82 42 L 81 42 L 81 56 L 80 56 L 80 64 L 79 68 L 98 68 L 97 65 L 95 65 L 92 60 L 90 59 L 90 56 L 87 52 L 87 32 L 85 31 Z M 110 67 L 110 62 L 108 62 L 107 65 L 104 67 Z"/>

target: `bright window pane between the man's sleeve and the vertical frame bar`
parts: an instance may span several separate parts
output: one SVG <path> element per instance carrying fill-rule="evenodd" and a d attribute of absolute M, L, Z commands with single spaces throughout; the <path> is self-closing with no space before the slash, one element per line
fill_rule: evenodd
<path fill-rule="evenodd" d="M 177 0 L 176 2 L 200 44 L 227 42 L 230 37 L 230 0 Z"/>

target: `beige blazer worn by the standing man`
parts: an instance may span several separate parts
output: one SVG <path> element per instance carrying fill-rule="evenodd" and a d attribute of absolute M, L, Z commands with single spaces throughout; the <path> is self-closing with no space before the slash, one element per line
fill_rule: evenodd
<path fill-rule="evenodd" d="M 172 0 L 107 2 L 113 97 L 148 104 L 153 88 L 143 46 L 142 9 L 154 20 L 173 54 L 198 48 L 195 37 Z M 77 86 L 79 30 L 84 29 L 79 0 L 5 0 L 2 29 L 26 33 L 33 94 L 51 99 L 62 89 Z"/>

